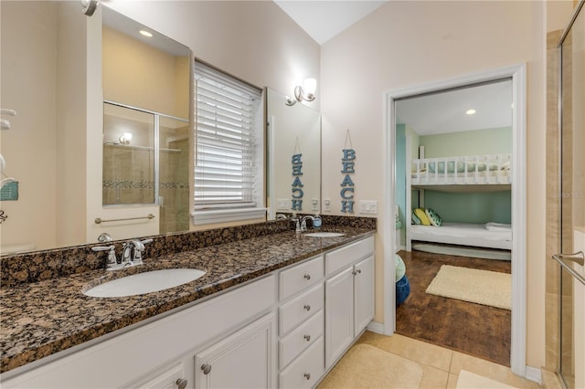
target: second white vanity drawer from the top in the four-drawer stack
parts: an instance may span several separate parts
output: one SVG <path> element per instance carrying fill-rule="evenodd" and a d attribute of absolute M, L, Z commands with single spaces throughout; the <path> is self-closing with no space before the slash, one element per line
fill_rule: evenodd
<path fill-rule="evenodd" d="M 282 336 L 293 330 L 294 327 L 313 316 L 315 312 L 322 310 L 323 306 L 324 288 L 323 284 L 320 283 L 279 308 L 279 333 Z"/>

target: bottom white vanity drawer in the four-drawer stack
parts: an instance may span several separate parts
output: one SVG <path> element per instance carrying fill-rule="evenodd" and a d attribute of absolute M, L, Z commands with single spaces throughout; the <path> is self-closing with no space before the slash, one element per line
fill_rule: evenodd
<path fill-rule="evenodd" d="M 324 373 L 323 336 L 279 375 L 279 388 L 312 388 Z"/>

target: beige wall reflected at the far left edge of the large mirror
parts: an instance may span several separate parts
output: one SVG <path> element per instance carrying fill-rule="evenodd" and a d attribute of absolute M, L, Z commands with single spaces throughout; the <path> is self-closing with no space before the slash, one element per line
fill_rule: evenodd
<path fill-rule="evenodd" d="M 3 115 L 12 128 L 2 131 L 0 139 L 5 173 L 19 182 L 18 200 L 2 203 L 8 219 L 0 232 L 3 247 L 33 243 L 41 249 L 53 247 L 56 239 L 58 7 L 16 5 L 1 4 L 0 106 L 16 110 L 16 117 Z M 34 22 L 26 22 L 30 15 Z M 35 169 L 29 168 L 31 163 L 37 164 Z M 46 223 L 31 225 L 37 215 Z"/>

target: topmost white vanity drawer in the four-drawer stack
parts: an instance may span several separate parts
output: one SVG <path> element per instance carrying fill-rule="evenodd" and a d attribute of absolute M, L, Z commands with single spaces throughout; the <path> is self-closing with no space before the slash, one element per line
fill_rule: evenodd
<path fill-rule="evenodd" d="M 301 265 L 284 270 L 279 275 L 280 300 L 286 300 L 301 290 L 307 289 L 324 277 L 324 259 L 319 256 Z"/>

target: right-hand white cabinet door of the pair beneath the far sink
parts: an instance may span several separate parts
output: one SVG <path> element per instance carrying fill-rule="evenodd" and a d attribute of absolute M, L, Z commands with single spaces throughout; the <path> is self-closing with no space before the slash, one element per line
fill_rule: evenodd
<path fill-rule="evenodd" d="M 355 336 L 374 319 L 374 256 L 354 266 Z"/>

